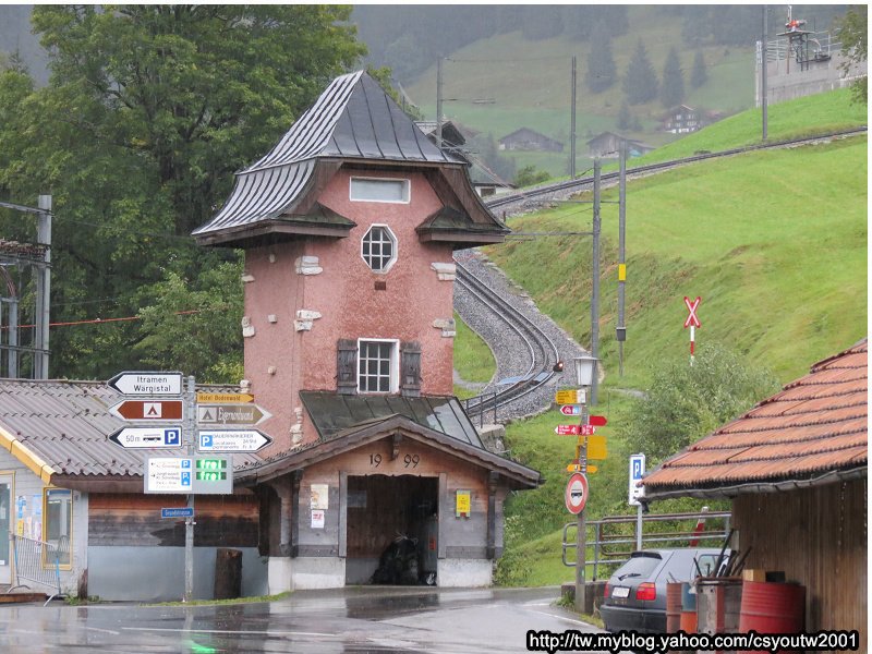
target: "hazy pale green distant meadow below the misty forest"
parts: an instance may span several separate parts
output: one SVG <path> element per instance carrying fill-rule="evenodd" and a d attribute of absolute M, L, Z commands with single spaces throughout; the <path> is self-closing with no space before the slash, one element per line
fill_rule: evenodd
<path fill-rule="evenodd" d="M 666 55 L 673 45 L 679 48 L 687 89 L 686 104 L 724 114 L 742 111 L 753 105 L 754 72 L 752 48 L 700 48 L 706 62 L 707 82 L 691 88 L 689 76 L 695 49 L 682 48 L 681 22 L 656 15 L 646 7 L 631 7 L 633 28 L 613 39 L 611 49 L 618 75 L 627 71 L 630 57 L 642 38 L 657 75 L 662 75 Z M 656 34 L 657 38 L 650 38 Z M 522 126 L 534 129 L 566 144 L 564 153 L 513 153 L 518 167 L 534 165 L 554 175 L 568 170 L 571 59 L 578 60 L 577 94 L 577 169 L 585 167 L 585 142 L 603 131 L 617 131 L 618 110 L 623 99 L 620 81 L 611 88 L 593 94 L 584 85 L 590 43 L 567 37 L 530 41 L 521 33 L 481 39 L 452 52 L 444 62 L 444 112 L 450 120 L 500 138 Z M 436 65 L 407 88 L 425 116 L 436 114 Z M 494 100 L 493 104 L 476 104 Z M 666 108 L 652 101 L 630 108 L 641 129 L 621 130 L 631 138 L 651 145 L 664 145 L 676 138 L 659 131 Z"/>

